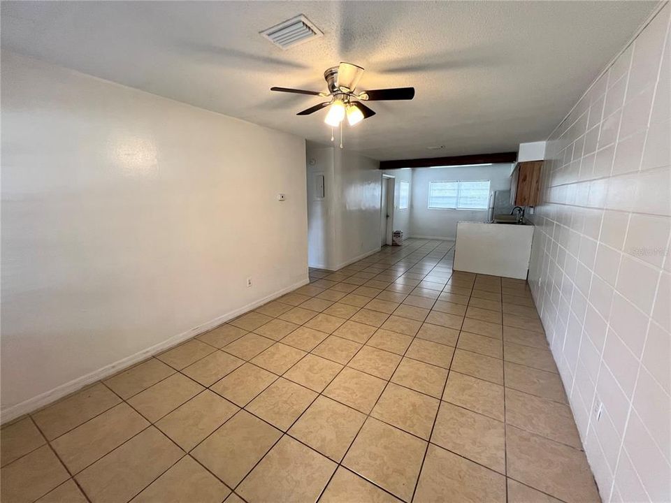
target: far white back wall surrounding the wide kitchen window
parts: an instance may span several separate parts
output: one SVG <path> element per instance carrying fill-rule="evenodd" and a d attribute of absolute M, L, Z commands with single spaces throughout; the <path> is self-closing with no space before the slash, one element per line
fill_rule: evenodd
<path fill-rule="evenodd" d="M 449 239 L 456 237 L 459 221 L 486 221 L 487 210 L 441 210 L 428 208 L 431 181 L 491 180 L 490 191 L 510 189 L 510 164 L 492 166 L 454 166 L 412 170 L 410 228 L 414 238 Z"/>

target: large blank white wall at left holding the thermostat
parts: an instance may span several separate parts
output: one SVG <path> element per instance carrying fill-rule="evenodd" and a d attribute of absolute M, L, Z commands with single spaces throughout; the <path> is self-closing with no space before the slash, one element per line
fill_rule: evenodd
<path fill-rule="evenodd" d="M 9 52 L 2 121 L 3 420 L 307 281 L 303 139 Z"/>

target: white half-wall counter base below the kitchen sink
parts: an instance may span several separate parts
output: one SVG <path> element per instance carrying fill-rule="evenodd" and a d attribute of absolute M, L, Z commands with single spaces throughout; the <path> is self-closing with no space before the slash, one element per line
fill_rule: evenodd
<path fill-rule="evenodd" d="M 533 226 L 459 222 L 454 270 L 526 279 Z"/>

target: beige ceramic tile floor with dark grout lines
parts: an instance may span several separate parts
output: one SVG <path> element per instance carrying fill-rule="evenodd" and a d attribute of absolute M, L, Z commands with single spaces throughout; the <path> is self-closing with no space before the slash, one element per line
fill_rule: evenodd
<path fill-rule="evenodd" d="M 528 286 L 407 240 L 6 425 L 13 502 L 591 502 Z"/>

